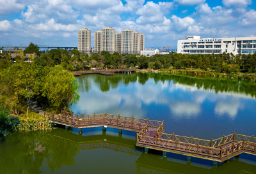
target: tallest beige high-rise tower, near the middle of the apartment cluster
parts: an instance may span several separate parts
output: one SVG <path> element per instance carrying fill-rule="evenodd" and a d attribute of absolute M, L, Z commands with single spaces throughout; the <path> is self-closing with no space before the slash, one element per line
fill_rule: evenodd
<path fill-rule="evenodd" d="M 101 29 L 100 50 L 108 51 L 110 54 L 113 54 L 116 50 L 115 38 L 115 29 L 111 27 L 105 27 L 104 29 Z"/>

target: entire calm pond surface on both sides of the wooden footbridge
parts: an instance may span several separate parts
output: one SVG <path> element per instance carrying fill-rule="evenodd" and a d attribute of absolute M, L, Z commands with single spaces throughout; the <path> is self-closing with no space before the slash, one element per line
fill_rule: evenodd
<path fill-rule="evenodd" d="M 166 133 L 196 138 L 256 133 L 256 87 L 236 80 L 134 73 L 77 77 L 74 113 L 115 113 L 164 120 Z M 217 168 L 212 161 L 135 147 L 135 133 L 102 127 L 13 133 L 0 143 L 0 173 L 256 173 L 242 154 Z"/>

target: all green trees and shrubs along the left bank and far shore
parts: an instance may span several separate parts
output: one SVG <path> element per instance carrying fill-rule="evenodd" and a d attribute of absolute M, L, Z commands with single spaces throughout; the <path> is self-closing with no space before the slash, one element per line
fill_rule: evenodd
<path fill-rule="evenodd" d="M 35 100 L 44 110 L 58 113 L 79 99 L 78 83 L 70 71 L 90 68 L 139 68 L 192 76 L 231 76 L 255 81 L 256 53 L 251 55 L 167 54 L 143 55 L 80 53 L 74 49 L 40 52 L 30 43 L 24 51 L 0 54 L 0 134 L 6 130 L 32 131 L 50 129 L 49 120 L 29 111 Z M 28 55 L 27 57 L 25 55 Z M 26 62 L 27 61 L 27 62 Z M 14 63 L 15 62 L 15 63 Z"/>

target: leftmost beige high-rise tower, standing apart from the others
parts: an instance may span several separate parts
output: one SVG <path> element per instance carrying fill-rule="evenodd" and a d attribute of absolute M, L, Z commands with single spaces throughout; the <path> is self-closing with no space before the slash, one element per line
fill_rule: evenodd
<path fill-rule="evenodd" d="M 90 29 L 78 30 L 78 50 L 86 54 L 91 52 L 91 31 Z"/>

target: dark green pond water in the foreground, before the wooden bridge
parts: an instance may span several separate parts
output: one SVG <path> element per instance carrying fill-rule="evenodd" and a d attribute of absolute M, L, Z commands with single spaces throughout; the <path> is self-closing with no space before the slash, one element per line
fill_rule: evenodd
<path fill-rule="evenodd" d="M 93 128 L 94 129 L 94 128 Z M 95 128 L 96 129 L 96 128 Z M 212 161 L 135 147 L 135 136 L 114 132 L 87 136 L 65 129 L 15 133 L 0 144 L 1 173 L 255 173 L 256 157 L 241 154 L 218 168 Z M 87 131 L 87 133 L 86 133 Z M 100 167 L 99 167 L 100 166 Z"/>

